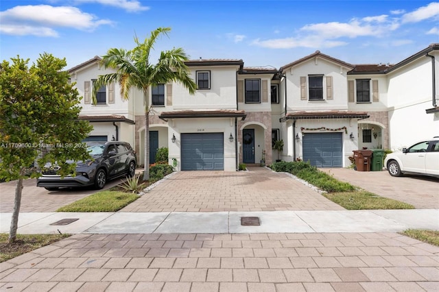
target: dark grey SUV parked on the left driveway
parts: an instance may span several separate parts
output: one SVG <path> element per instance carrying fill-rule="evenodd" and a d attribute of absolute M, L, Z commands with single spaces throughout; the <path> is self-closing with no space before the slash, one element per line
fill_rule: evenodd
<path fill-rule="evenodd" d="M 104 188 L 107 180 L 123 175 L 134 176 L 137 159 L 129 143 L 90 143 L 88 151 L 93 160 L 77 162 L 75 176 L 61 178 L 57 173 L 58 166 L 46 165 L 42 176 L 36 180 L 36 186 L 43 186 L 49 191 L 78 186 L 95 186 L 100 189 Z"/>

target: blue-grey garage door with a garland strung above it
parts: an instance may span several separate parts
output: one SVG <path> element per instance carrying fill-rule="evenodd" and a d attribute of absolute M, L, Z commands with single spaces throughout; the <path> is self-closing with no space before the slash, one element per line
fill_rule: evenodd
<path fill-rule="evenodd" d="M 342 133 L 306 133 L 303 160 L 316 167 L 343 167 Z"/>

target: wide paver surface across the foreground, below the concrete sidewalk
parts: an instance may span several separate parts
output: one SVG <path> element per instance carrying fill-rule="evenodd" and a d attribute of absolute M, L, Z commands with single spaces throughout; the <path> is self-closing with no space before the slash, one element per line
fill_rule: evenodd
<path fill-rule="evenodd" d="M 0 264 L 1 291 L 438 291 L 396 233 L 77 234 Z"/>

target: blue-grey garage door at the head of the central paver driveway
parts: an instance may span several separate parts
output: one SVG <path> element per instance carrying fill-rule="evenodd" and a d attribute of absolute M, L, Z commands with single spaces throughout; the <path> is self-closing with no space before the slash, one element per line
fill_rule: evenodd
<path fill-rule="evenodd" d="M 181 134 L 181 170 L 224 170 L 223 133 Z"/>

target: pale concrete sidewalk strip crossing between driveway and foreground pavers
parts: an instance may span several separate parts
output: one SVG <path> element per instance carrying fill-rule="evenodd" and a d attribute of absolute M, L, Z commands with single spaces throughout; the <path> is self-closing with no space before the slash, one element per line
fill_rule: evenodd
<path fill-rule="evenodd" d="M 12 213 L 0 214 L 0 232 L 9 232 Z M 241 226 L 241 217 L 259 217 L 260 226 Z M 68 225 L 51 225 L 78 219 Z M 399 232 L 438 230 L 438 209 L 299 210 L 270 212 L 29 212 L 19 217 L 19 234 L 185 234 Z"/>

